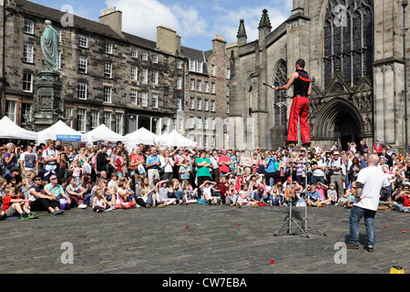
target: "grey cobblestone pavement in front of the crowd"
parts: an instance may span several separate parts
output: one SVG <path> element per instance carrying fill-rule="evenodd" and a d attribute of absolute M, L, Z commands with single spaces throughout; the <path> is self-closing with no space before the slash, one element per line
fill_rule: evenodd
<path fill-rule="evenodd" d="M 299 224 L 305 208 L 292 211 Z M 337 247 L 349 237 L 350 210 L 326 205 L 307 212 L 309 238 L 299 231 L 289 235 L 287 224 L 274 236 L 289 215 L 279 206 L 191 203 L 102 214 L 90 208 L 42 212 L 38 219 L 0 222 L 0 273 L 388 274 L 392 266 L 410 273 L 409 214 L 378 211 L 374 253 L 368 253 Z M 63 263 L 73 251 L 73 263 Z"/>

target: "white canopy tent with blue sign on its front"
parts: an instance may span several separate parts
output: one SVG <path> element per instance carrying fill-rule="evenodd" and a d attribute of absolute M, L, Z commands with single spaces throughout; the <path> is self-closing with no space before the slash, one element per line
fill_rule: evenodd
<path fill-rule="evenodd" d="M 87 137 L 81 132 L 71 129 L 67 124 L 58 120 L 53 126 L 37 132 L 37 142 L 45 142 L 47 140 L 60 141 L 87 141 Z"/>

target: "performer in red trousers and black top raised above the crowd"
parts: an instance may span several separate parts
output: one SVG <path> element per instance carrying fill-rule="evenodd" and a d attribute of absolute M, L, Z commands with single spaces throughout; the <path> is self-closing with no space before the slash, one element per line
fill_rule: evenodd
<path fill-rule="evenodd" d="M 289 78 L 286 85 L 276 88 L 288 90 L 293 85 L 293 102 L 289 116 L 287 146 L 295 146 L 298 142 L 298 121 L 301 119 L 302 146 L 311 145 L 311 130 L 309 129 L 309 96 L 312 94 L 312 79 L 304 70 L 305 62 L 302 59 L 296 61 L 296 71 Z"/>

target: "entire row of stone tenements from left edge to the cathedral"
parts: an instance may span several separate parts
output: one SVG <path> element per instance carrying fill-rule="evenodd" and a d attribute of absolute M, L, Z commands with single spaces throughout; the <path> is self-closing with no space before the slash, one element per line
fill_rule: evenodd
<path fill-rule="evenodd" d="M 87 132 L 104 123 L 120 134 L 144 127 L 157 134 L 179 130 L 199 146 L 216 141 L 215 130 L 208 137 L 203 129 L 205 121 L 211 127 L 212 119 L 227 117 L 229 57 L 223 39 L 214 40 L 213 48 L 204 52 L 181 47 L 177 32 L 158 26 L 157 41 L 151 41 L 123 32 L 122 13 L 115 9 L 104 11 L 98 22 L 26 0 L 1 0 L 0 10 L 2 116 L 25 126 L 38 72 L 46 68 L 40 36 L 49 19 L 60 35 L 62 95 L 73 129 Z M 213 66 L 215 76 L 208 74 Z M 210 91 L 212 84 L 215 92 Z M 196 99 L 194 111 L 186 106 L 191 96 Z M 196 125 L 201 120 L 200 129 L 188 129 L 191 116 Z"/>

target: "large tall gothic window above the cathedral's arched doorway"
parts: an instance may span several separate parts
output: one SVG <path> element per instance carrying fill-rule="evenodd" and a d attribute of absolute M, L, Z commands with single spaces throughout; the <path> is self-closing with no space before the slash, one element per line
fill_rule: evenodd
<path fill-rule="evenodd" d="M 341 73 L 351 86 L 373 77 L 373 1 L 329 0 L 323 25 L 324 84 Z"/>

